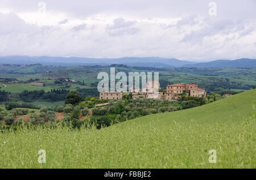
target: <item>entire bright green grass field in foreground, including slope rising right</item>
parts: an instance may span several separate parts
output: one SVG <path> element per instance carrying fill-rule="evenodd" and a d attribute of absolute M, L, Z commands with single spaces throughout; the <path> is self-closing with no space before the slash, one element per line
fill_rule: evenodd
<path fill-rule="evenodd" d="M 256 168 L 256 90 L 108 128 L 0 135 L 0 168 Z M 39 164 L 38 150 L 46 150 Z M 210 164 L 210 149 L 217 163 Z"/>

